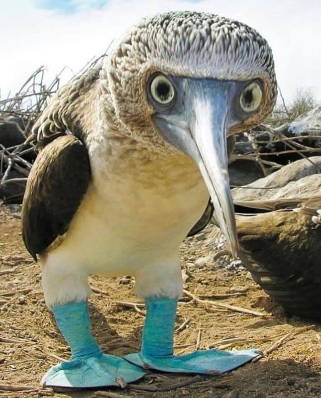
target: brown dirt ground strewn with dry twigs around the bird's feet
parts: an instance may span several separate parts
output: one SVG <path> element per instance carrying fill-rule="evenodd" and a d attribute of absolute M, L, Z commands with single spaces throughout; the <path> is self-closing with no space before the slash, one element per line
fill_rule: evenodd
<path fill-rule="evenodd" d="M 41 389 L 39 381 L 49 367 L 69 358 L 69 348 L 45 306 L 39 265 L 21 240 L 19 213 L 0 207 L 0 397 L 321 397 L 321 324 L 287 316 L 246 270 L 226 269 L 231 259 L 225 250 L 212 225 L 182 245 L 187 292 L 179 305 L 177 327 L 188 322 L 176 331 L 176 353 L 255 347 L 271 351 L 268 355 L 221 376 L 151 372 L 124 390 L 54 392 Z M 101 347 L 115 355 L 137 351 L 143 308 L 117 303 L 138 302 L 134 281 L 93 276 L 90 284 L 93 333 Z"/>

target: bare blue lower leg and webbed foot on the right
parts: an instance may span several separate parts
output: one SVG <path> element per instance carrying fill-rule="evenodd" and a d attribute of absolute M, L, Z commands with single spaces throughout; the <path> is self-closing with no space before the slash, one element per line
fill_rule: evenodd
<path fill-rule="evenodd" d="M 173 355 L 177 299 L 147 298 L 146 320 L 141 352 L 124 358 L 143 369 L 164 372 L 220 374 L 235 369 L 256 357 L 258 350 L 196 351 Z"/>

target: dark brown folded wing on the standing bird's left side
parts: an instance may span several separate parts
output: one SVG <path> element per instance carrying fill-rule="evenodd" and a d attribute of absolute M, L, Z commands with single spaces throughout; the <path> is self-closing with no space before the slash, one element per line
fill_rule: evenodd
<path fill-rule="evenodd" d="M 37 156 L 23 198 L 24 244 L 36 260 L 70 224 L 91 178 L 85 145 L 72 135 L 56 138 Z"/>

